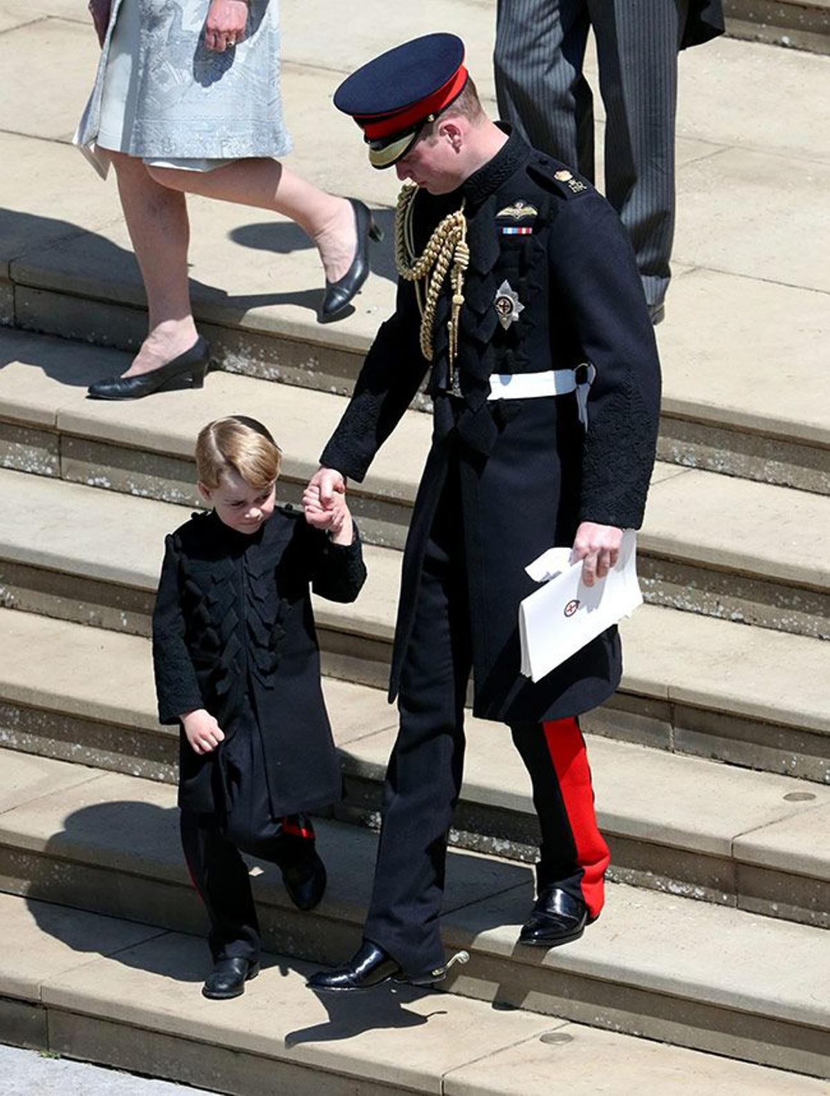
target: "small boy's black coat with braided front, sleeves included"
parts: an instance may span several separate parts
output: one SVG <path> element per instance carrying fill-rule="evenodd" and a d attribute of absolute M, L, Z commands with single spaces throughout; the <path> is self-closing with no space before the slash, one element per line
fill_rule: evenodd
<path fill-rule="evenodd" d="M 360 540 L 331 543 L 277 507 L 249 536 L 215 512 L 166 538 L 153 613 L 162 723 L 206 708 L 226 739 L 197 754 L 184 731 L 178 804 L 241 829 L 334 802 L 341 776 L 320 687 L 309 586 L 350 602 L 366 578 Z M 235 827 L 235 826 L 234 826 Z"/>

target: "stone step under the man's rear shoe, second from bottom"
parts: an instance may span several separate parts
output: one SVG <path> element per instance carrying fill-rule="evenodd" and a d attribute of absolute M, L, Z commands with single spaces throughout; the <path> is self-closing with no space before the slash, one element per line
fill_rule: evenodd
<path fill-rule="evenodd" d="M 204 933 L 204 911 L 178 849 L 172 787 L 41 757 L 7 756 L 16 772 L 0 803 L 1 890 L 25 895 L 30 903 L 56 902 Z M 350 955 L 359 939 L 377 838 L 334 822 L 321 822 L 319 834 L 332 871 L 314 913 L 290 907 L 273 867 L 256 863 L 252 875 L 266 947 L 325 963 Z M 466 948 L 471 961 L 453 968 L 448 990 L 830 1074 L 830 954 L 823 931 L 612 883 L 602 917 L 580 940 L 539 954 L 516 947 L 531 899 L 528 867 L 450 853 L 445 943 L 448 949 Z M 199 956 L 204 972 L 204 945 Z M 129 958 L 125 964 L 141 966 Z M 124 1008 L 141 1000 L 129 990 L 125 997 Z M 256 1000 L 253 986 L 249 998 Z M 177 1005 L 172 997 L 169 1023 Z M 350 1008 L 347 1013 L 354 1023 Z"/>

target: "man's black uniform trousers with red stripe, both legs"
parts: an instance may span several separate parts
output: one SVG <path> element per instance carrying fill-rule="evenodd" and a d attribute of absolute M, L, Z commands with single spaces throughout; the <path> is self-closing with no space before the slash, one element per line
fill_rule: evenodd
<path fill-rule="evenodd" d="M 427 545 L 414 627 L 402 667 L 400 730 L 389 761 L 383 821 L 366 939 L 410 974 L 443 962 L 439 915 L 447 838 L 461 791 L 464 698 L 472 654 L 468 594 L 450 487 Z M 593 811 L 590 770 L 576 719 L 511 728 L 530 774 L 542 832 L 538 884 L 602 907 L 608 846 Z"/>

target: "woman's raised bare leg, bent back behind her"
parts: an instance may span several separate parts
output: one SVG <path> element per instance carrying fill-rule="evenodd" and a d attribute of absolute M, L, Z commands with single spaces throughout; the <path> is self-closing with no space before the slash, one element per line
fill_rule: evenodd
<path fill-rule="evenodd" d="M 214 171 L 152 167 L 147 170 L 157 183 L 172 192 L 201 194 L 290 217 L 313 241 L 330 282 L 343 277 L 351 265 L 357 250 L 351 204 L 318 190 L 278 160 L 263 157 L 234 160 Z"/>

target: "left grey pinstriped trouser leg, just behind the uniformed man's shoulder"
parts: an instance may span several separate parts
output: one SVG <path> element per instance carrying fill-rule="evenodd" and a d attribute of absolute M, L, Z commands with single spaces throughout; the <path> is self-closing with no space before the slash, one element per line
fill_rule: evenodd
<path fill-rule="evenodd" d="M 498 0 L 498 113 L 542 152 L 593 179 L 593 109 L 583 76 L 586 0 Z"/>

